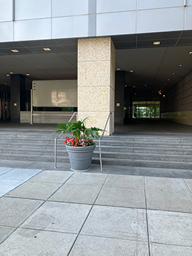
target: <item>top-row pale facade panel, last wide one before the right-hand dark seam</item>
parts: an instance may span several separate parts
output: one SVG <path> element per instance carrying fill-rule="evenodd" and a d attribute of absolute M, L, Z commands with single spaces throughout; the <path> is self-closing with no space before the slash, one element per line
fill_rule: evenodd
<path fill-rule="evenodd" d="M 156 9 L 184 6 L 183 0 L 138 0 L 137 9 Z"/>

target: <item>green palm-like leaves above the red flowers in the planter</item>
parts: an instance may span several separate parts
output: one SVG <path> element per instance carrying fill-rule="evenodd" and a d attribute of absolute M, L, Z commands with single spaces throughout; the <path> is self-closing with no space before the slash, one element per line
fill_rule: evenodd
<path fill-rule="evenodd" d="M 73 138 L 76 138 L 78 141 L 80 139 L 91 139 L 91 138 L 99 139 L 100 138 L 99 132 L 103 130 L 97 127 L 86 128 L 85 127 L 86 119 L 87 118 L 83 120 L 79 120 L 77 122 L 67 122 L 67 123 L 58 124 L 57 125 L 58 129 L 56 129 L 55 132 L 69 132 L 70 134 L 73 134 Z"/>

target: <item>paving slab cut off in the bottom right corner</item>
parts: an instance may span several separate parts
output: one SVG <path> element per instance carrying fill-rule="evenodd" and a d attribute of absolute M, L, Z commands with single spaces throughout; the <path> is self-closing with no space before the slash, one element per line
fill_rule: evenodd
<path fill-rule="evenodd" d="M 151 242 L 151 256 L 191 256 L 192 247 L 161 245 Z"/>

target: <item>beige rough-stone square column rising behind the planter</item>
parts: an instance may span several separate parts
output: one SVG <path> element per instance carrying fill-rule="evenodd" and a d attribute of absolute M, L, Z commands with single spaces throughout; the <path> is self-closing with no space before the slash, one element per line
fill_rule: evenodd
<path fill-rule="evenodd" d="M 112 124 L 105 135 L 114 132 L 115 49 L 111 38 L 78 40 L 78 119 L 89 117 L 87 127 L 105 128 L 112 112 Z"/>

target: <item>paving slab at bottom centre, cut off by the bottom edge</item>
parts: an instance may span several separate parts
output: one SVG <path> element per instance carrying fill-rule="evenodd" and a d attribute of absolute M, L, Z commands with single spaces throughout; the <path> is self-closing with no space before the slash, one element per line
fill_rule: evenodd
<path fill-rule="evenodd" d="M 147 242 L 80 235 L 70 256 L 149 256 Z"/>

